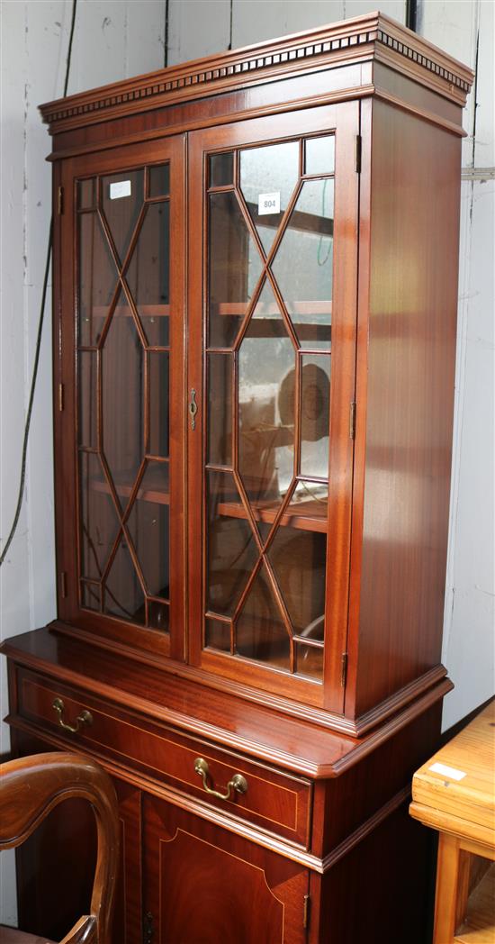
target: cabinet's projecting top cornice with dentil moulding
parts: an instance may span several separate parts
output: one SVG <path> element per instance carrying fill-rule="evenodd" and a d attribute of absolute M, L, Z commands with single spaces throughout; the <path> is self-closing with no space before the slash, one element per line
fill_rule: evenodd
<path fill-rule="evenodd" d="M 144 76 L 124 79 L 41 105 L 56 134 L 180 101 L 227 93 L 342 65 L 380 62 L 465 105 L 471 70 L 383 13 L 293 33 L 240 49 L 193 59 Z M 370 83 L 368 93 L 373 93 Z"/>

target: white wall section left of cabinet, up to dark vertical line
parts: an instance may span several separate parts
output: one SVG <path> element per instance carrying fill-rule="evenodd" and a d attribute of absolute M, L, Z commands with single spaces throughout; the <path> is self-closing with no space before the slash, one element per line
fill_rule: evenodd
<path fill-rule="evenodd" d="M 79 0 L 69 93 L 164 64 L 165 3 Z M 38 105 L 63 92 L 72 3 L 2 2 L 1 42 L 1 506 L 2 546 L 19 483 L 22 435 L 36 343 L 51 207 L 50 140 Z M 56 614 L 51 420 L 51 299 L 29 442 L 25 502 L 0 569 L 2 634 L 42 626 Z M 2 717 L 7 714 L 1 661 Z M 8 728 L 2 725 L 2 752 Z M 0 922 L 16 918 L 12 854 L 0 857 Z"/>

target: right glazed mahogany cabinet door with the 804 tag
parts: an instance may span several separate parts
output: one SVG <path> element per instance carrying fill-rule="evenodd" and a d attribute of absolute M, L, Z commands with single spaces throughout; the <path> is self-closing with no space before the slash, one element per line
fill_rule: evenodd
<path fill-rule="evenodd" d="M 191 660 L 334 711 L 358 120 L 352 102 L 190 135 Z"/>

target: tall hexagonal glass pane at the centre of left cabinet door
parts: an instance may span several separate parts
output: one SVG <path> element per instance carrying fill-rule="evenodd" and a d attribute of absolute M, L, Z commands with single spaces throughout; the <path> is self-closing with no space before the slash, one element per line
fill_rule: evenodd
<path fill-rule="evenodd" d="M 143 349 L 124 302 L 121 292 L 102 351 L 103 450 L 123 508 L 144 445 Z"/>

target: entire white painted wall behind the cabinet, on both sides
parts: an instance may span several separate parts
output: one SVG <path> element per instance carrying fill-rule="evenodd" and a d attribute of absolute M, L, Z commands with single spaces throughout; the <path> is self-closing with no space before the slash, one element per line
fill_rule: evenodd
<path fill-rule="evenodd" d="M 404 22 L 404 0 L 169 0 L 170 64 L 268 39 L 379 6 Z M 49 149 L 37 105 L 62 93 L 70 0 L 3 2 L 1 525 L 15 506 L 50 212 Z M 495 219 L 492 0 L 419 0 L 419 32 L 474 68 L 465 116 L 459 329 L 451 531 L 443 661 L 455 689 L 444 727 L 493 691 L 493 236 Z M 166 0 L 79 0 L 69 92 L 159 68 Z M 474 108 L 476 100 L 477 109 Z M 475 132 L 475 133 L 474 133 Z M 478 174 L 477 168 L 492 168 Z M 474 171 L 474 173 L 473 173 Z M 0 570 L 2 631 L 25 632 L 55 615 L 50 319 L 28 451 L 25 503 Z M 2 660 L 2 672 L 4 660 Z M 2 676 L 2 716 L 7 712 Z M 3 726 L 2 750 L 8 750 Z M 11 863 L 0 859 L 0 921 L 15 920 Z"/>

